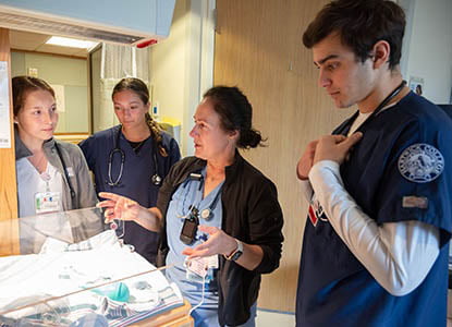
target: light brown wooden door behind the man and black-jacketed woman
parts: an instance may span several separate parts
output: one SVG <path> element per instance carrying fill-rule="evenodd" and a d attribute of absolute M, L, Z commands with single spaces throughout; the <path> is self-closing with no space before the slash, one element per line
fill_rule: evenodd
<path fill-rule="evenodd" d="M 254 107 L 254 126 L 267 147 L 244 156 L 278 187 L 284 213 L 280 268 L 264 276 L 258 306 L 293 312 L 307 202 L 296 180 L 296 162 L 307 143 L 328 134 L 351 110 L 333 109 L 317 86 L 307 24 L 326 1 L 217 0 L 216 85 L 236 85 Z"/>

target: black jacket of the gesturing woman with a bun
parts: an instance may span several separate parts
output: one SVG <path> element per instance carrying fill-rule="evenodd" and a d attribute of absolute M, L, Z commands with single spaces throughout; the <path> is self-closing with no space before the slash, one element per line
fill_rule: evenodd
<path fill-rule="evenodd" d="M 172 167 L 157 199 L 164 218 L 178 186 L 191 172 L 200 171 L 205 166 L 205 160 L 187 157 Z M 252 271 L 219 256 L 219 324 L 235 326 L 249 318 L 249 307 L 256 302 L 259 292 L 260 275 L 271 272 L 279 266 L 283 219 L 274 184 L 243 159 L 239 152 L 234 164 L 225 169 L 221 204 L 222 230 L 247 244 L 260 245 L 264 251 L 262 261 Z M 164 264 L 168 253 L 164 218 L 158 261 L 160 265 Z"/>

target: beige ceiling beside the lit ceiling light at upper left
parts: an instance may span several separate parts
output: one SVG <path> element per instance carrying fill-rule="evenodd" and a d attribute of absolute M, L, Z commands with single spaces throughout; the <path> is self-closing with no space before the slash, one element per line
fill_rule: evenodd
<path fill-rule="evenodd" d="M 13 50 L 57 53 L 86 58 L 86 49 L 46 45 L 51 35 L 10 29 L 10 45 Z"/>

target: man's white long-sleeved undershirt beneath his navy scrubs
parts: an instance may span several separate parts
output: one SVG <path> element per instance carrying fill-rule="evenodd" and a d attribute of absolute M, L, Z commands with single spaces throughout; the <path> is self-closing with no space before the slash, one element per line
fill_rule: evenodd
<path fill-rule="evenodd" d="M 359 113 L 349 135 L 369 116 Z M 405 295 L 422 283 L 439 255 L 437 227 L 417 220 L 377 226 L 345 191 L 334 161 L 314 165 L 302 187 L 308 202 L 315 192 L 334 231 L 388 292 Z"/>

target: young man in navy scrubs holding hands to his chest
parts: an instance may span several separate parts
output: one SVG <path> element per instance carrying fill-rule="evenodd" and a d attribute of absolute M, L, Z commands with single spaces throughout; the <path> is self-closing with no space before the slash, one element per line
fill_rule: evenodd
<path fill-rule="evenodd" d="M 327 4 L 303 36 L 318 83 L 358 111 L 308 144 L 297 326 L 445 326 L 452 122 L 400 72 L 403 10 Z"/>

